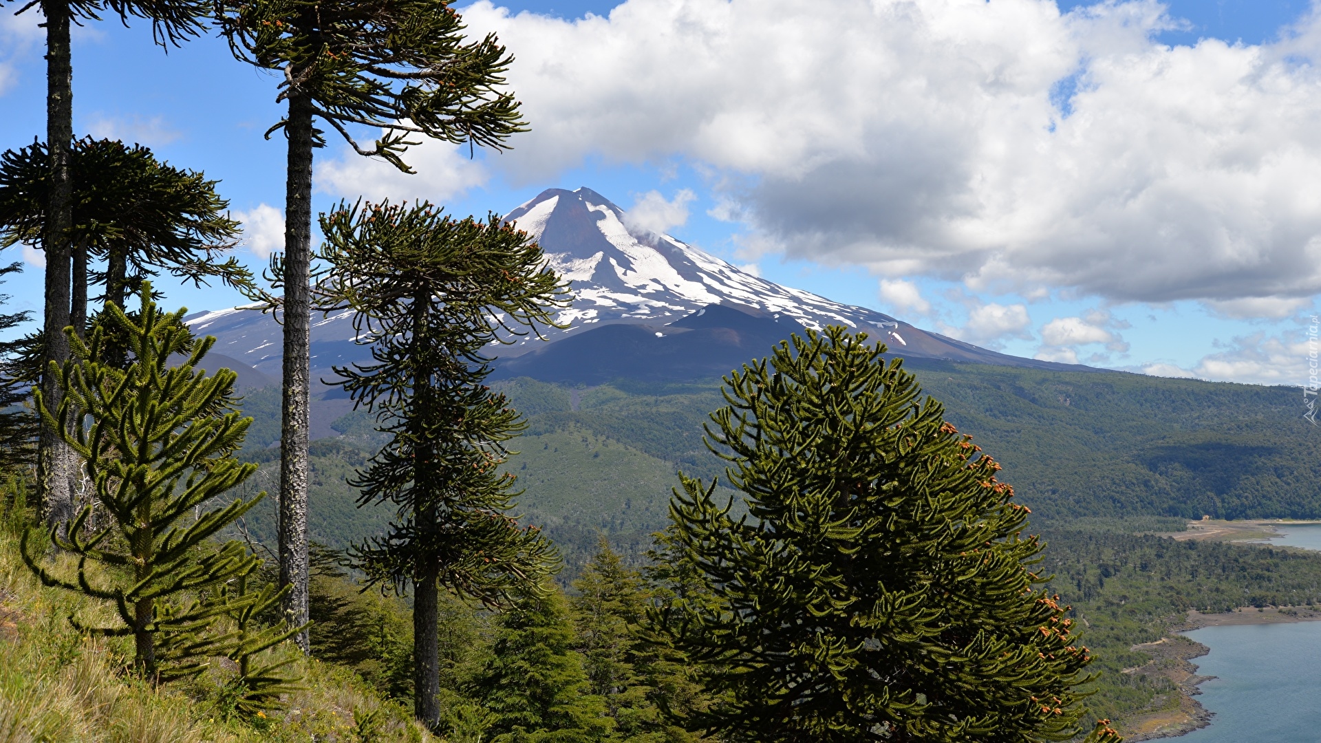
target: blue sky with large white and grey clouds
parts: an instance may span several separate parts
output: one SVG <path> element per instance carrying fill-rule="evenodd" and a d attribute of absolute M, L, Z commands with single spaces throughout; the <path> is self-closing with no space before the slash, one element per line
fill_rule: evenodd
<path fill-rule="evenodd" d="M 1304 382 L 1321 291 L 1310 4 L 893 5 L 464 5 L 518 57 L 532 134 L 470 161 L 420 148 L 411 178 L 333 143 L 318 205 L 480 214 L 587 185 L 773 280 L 1008 353 Z M 0 21 L 0 147 L 45 128 L 37 20 Z M 283 205 L 284 145 L 262 137 L 275 83 L 215 37 L 165 54 L 141 22 L 75 33 L 75 130 L 219 178 L 252 266 Z M 29 266 L 4 290 L 36 309 L 40 287 Z M 192 309 L 239 300 L 165 288 Z"/>

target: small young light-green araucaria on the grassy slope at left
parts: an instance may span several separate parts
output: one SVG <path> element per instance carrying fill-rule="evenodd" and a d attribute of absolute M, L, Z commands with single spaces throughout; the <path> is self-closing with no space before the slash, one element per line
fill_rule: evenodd
<path fill-rule="evenodd" d="M 182 309 L 159 312 L 144 283 L 137 317 L 111 304 L 86 344 L 67 332 L 74 358 L 50 370 L 63 393 L 59 407 L 50 410 L 42 393 L 34 393 L 48 424 L 58 426 L 86 463 L 110 521 L 90 525 L 87 505 L 67 537 L 52 526 L 54 543 L 78 557 L 73 578 L 32 554 L 32 530 L 22 538 L 24 561 L 48 586 L 115 602 L 122 624 L 79 629 L 132 635 L 135 662 L 151 678 L 201 670 L 189 658 L 215 646 L 199 631 L 235 606 L 185 599 L 247 574 L 256 559 L 238 542 L 205 545 L 260 496 L 199 510 L 256 471 L 232 456 L 252 419 L 232 410 L 234 372 L 206 375 L 197 369 L 215 338 L 194 340 L 182 317 Z M 100 361 L 106 325 L 128 338 L 133 361 L 127 369 Z M 170 366 L 173 354 L 184 362 Z M 89 562 L 106 568 L 89 570 Z M 161 661 L 177 662 L 162 669 Z"/>

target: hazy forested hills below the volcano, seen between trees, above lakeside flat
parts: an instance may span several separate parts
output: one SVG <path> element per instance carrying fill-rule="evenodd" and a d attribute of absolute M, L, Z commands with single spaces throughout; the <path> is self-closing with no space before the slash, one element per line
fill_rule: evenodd
<path fill-rule="evenodd" d="M 908 360 L 947 418 L 1004 465 L 1003 480 L 1034 525 L 1081 517 L 1321 518 L 1321 432 L 1296 390 L 1116 372 L 1045 372 Z M 520 513 L 572 554 L 597 533 L 642 551 L 664 526 L 676 471 L 720 476 L 703 423 L 724 405 L 719 379 L 498 382 L 530 427 L 510 463 Z M 279 438 L 277 389 L 248 394 L 258 416 L 250 456 Z M 359 512 L 345 473 L 379 440 L 349 412 L 313 448 L 313 538 L 345 543 L 382 528 L 388 509 Z M 277 479 L 267 479 L 272 487 Z M 254 516 L 256 522 L 260 516 Z"/>

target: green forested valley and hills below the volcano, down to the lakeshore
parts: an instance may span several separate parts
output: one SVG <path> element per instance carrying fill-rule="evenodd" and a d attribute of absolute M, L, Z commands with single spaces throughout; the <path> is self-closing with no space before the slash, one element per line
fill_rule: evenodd
<path fill-rule="evenodd" d="M 946 405 L 947 418 L 1003 463 L 1003 480 L 1032 508 L 1032 530 L 1046 543 L 1044 572 L 1054 575 L 1049 590 L 1087 624 L 1085 641 L 1099 658 L 1095 717 L 1132 721 L 1131 732 L 1140 734 L 1166 726 L 1153 721 L 1196 711 L 1192 686 L 1143 649 L 1151 643 L 1230 620 L 1223 612 L 1242 606 L 1252 607 L 1250 621 L 1292 621 L 1321 604 L 1321 554 L 1235 543 L 1269 537 L 1281 516 L 1321 517 L 1312 464 L 1321 452 L 1293 420 L 1292 390 L 905 365 Z M 629 563 L 646 562 L 651 534 L 667 524 L 678 471 L 723 476 L 701 427 L 723 405 L 717 379 L 580 386 L 517 378 L 497 389 L 528 422 L 507 465 L 524 489 L 517 512 L 556 542 L 564 586 L 601 534 Z M 273 401 L 267 391 L 248 395 L 259 419 L 273 415 Z M 378 443 L 370 416 L 349 412 L 333 426 L 337 436 L 313 444 L 312 538 L 343 549 L 383 529 L 390 513 L 358 509 L 343 485 Z M 268 443 L 255 438 L 259 448 L 250 451 L 273 464 Z M 267 483 L 271 467 L 263 465 Z M 262 508 L 248 517 L 252 533 L 273 537 L 273 510 Z M 1214 518 L 1201 521 L 1203 514 Z"/>

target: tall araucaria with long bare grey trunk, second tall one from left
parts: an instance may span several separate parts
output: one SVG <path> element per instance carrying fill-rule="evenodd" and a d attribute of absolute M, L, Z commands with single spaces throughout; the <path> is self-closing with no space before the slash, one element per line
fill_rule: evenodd
<path fill-rule="evenodd" d="M 320 119 L 353 148 L 404 172 L 411 134 L 450 143 L 503 147 L 522 131 L 518 103 L 502 91 L 511 58 L 494 36 L 464 38 L 446 0 L 217 0 L 234 54 L 277 70 L 288 112 L 271 131 L 288 140 L 283 288 L 284 403 L 280 436 L 280 582 L 293 623 L 308 615 L 308 394 L 312 151 L 324 144 Z M 373 148 L 350 130 L 378 127 Z M 299 644 L 306 649 L 306 635 Z"/>

